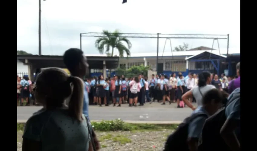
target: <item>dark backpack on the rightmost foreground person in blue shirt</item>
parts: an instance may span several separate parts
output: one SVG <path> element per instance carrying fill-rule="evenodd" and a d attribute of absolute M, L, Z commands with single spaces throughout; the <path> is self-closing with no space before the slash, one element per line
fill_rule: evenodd
<path fill-rule="evenodd" d="M 240 99 L 240 93 L 235 94 L 229 100 L 227 105 L 236 99 Z M 205 121 L 201 138 L 199 139 L 198 151 L 230 151 L 229 147 L 220 135 L 220 129 L 226 121 L 225 109 L 226 107 L 222 108 L 220 111 L 216 112 Z"/>

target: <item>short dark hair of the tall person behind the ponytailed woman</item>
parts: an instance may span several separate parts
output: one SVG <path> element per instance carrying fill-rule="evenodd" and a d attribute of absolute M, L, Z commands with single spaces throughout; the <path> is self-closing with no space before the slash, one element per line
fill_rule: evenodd
<path fill-rule="evenodd" d="M 63 62 L 68 70 L 73 72 L 74 67 L 78 66 L 82 61 L 83 51 L 78 48 L 70 48 L 63 54 Z"/>

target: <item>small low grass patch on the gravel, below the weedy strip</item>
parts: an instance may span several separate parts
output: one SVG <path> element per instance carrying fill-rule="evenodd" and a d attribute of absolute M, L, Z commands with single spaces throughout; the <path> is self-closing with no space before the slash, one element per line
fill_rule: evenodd
<path fill-rule="evenodd" d="M 104 136 L 99 137 L 99 141 L 100 142 L 104 142 L 106 140 L 112 140 L 113 142 L 119 142 L 120 144 L 126 144 L 126 143 L 131 143 L 132 140 L 129 139 L 126 136 L 123 135 L 111 135 L 111 134 L 107 134 Z"/>

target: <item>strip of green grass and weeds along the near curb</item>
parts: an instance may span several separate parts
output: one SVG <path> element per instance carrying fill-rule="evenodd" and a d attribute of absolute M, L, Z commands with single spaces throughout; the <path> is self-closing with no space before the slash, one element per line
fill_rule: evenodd
<path fill-rule="evenodd" d="M 94 130 L 98 131 L 132 131 L 132 130 L 160 130 L 176 129 L 178 124 L 131 124 L 123 120 L 102 120 L 91 123 Z M 24 130 L 24 123 L 17 123 L 17 131 Z"/>

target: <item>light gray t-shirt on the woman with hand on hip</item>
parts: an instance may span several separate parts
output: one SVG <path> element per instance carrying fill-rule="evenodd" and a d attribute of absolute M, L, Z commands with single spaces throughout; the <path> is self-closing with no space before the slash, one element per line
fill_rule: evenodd
<path fill-rule="evenodd" d="M 204 95 L 206 92 L 208 92 L 209 90 L 216 88 L 214 85 L 205 85 L 203 87 L 200 87 L 200 91 L 202 93 L 202 95 Z M 203 105 L 203 96 L 201 95 L 200 91 L 199 91 L 199 87 L 195 86 L 194 88 L 192 88 L 190 91 L 192 91 L 193 96 L 196 100 L 197 106 Z"/>

